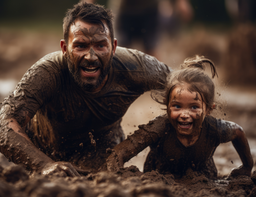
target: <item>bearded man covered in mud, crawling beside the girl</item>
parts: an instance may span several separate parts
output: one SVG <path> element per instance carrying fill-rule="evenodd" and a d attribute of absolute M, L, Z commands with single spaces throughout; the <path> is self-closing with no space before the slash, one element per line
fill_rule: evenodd
<path fill-rule="evenodd" d="M 170 72 L 117 47 L 112 19 L 86 2 L 68 10 L 62 52 L 34 64 L 2 104 L 0 152 L 10 161 L 64 176 L 106 169 L 106 149 L 124 140 L 121 117 L 145 91 L 163 88 Z"/>

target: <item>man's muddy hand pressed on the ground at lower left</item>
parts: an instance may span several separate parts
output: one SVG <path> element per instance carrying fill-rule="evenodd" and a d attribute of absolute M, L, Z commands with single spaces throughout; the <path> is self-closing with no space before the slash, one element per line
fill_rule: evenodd
<path fill-rule="evenodd" d="M 42 175 L 58 173 L 62 176 L 81 177 L 69 162 L 49 162 L 39 172 Z"/>

